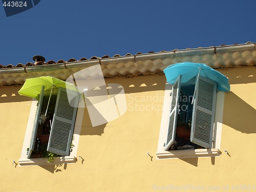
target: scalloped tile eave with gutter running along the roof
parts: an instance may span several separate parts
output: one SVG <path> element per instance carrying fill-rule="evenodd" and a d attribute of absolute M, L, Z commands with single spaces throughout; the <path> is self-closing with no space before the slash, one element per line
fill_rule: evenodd
<path fill-rule="evenodd" d="M 205 63 L 212 68 L 255 65 L 256 44 L 173 50 L 158 53 L 136 54 L 110 58 L 54 63 L 32 67 L 0 69 L 0 86 L 23 83 L 26 78 L 51 75 L 66 80 L 71 74 L 95 65 L 101 65 L 104 77 L 159 73 L 176 62 Z M 61 75 L 62 74 L 62 75 Z M 15 80 L 13 78 L 18 78 Z"/>

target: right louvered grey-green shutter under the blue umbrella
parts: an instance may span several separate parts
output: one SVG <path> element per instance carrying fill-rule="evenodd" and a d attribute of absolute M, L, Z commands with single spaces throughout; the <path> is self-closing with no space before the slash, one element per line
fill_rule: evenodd
<path fill-rule="evenodd" d="M 190 140 L 205 148 L 211 148 L 216 108 L 217 83 L 198 79 Z"/>

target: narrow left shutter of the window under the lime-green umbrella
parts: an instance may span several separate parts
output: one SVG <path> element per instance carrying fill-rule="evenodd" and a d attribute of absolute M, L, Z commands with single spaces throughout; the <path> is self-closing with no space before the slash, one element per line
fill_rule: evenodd
<path fill-rule="evenodd" d="M 37 127 L 38 127 L 38 122 L 39 122 L 39 117 L 40 117 L 40 112 L 41 112 L 42 98 L 44 97 L 44 90 L 45 90 L 45 87 L 42 86 L 41 93 L 39 95 L 39 99 L 38 99 L 38 103 L 37 103 L 37 109 L 36 109 L 36 113 L 35 113 L 35 121 L 34 121 L 34 125 L 33 125 L 30 146 L 29 146 L 29 150 L 27 153 L 28 158 L 30 158 L 31 153 L 34 150 L 34 146 L 35 146 L 35 139 L 36 139 Z"/>

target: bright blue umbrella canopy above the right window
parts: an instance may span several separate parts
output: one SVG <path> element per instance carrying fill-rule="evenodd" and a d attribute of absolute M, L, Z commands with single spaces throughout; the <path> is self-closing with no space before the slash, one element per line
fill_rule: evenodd
<path fill-rule="evenodd" d="M 230 85 L 228 78 L 222 73 L 206 66 L 204 63 L 195 62 L 180 62 L 170 65 L 163 70 L 167 82 L 173 84 L 179 75 L 182 76 L 181 82 L 187 82 L 191 78 L 196 76 L 205 77 L 216 81 L 218 83 L 218 89 L 220 91 L 229 92 Z"/>

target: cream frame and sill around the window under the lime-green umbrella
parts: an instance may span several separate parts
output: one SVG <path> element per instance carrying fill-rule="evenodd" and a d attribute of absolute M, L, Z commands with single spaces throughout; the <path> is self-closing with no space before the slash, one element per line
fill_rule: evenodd
<path fill-rule="evenodd" d="M 33 125 L 34 125 L 35 118 L 36 118 L 37 103 L 38 103 L 38 100 L 36 100 L 36 99 L 29 101 L 29 104 L 31 104 L 30 115 L 29 115 L 29 119 L 28 119 L 26 133 L 25 133 L 22 154 L 20 155 L 20 159 L 18 160 L 19 166 L 75 163 L 78 142 L 79 142 L 79 135 L 80 135 L 80 130 L 81 130 L 81 123 L 82 123 L 82 118 L 83 118 L 83 113 L 84 113 L 84 108 L 82 108 L 82 102 L 78 101 L 78 108 L 77 108 L 74 130 L 73 130 L 72 143 L 74 146 L 72 147 L 72 151 L 70 152 L 69 156 L 55 157 L 54 162 L 50 162 L 50 163 L 47 162 L 48 158 L 28 158 L 27 157 L 27 148 L 30 145 L 31 136 L 33 133 Z"/>

